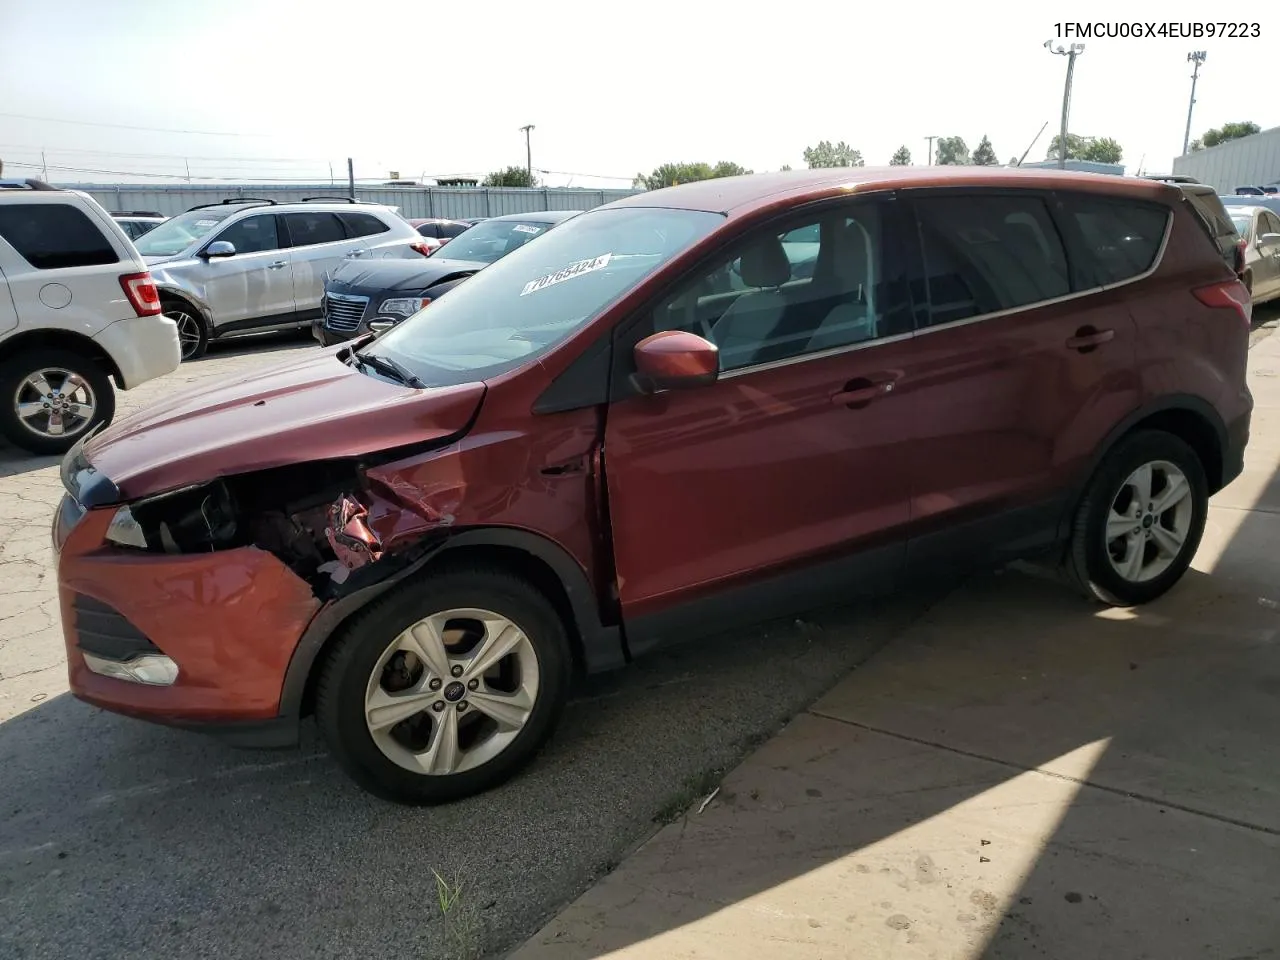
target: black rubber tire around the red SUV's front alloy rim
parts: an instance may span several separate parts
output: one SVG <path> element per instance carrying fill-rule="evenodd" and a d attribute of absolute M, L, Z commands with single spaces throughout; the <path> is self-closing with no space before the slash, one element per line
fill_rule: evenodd
<path fill-rule="evenodd" d="M 538 696 L 525 726 L 493 759 L 460 773 L 413 773 L 374 741 L 366 689 L 397 636 L 424 617 L 460 608 L 492 611 L 520 627 L 538 659 Z M 564 625 L 543 594 L 500 570 L 451 567 L 401 585 L 352 618 L 320 667 L 316 721 L 338 763 L 369 792 L 401 804 L 451 803 L 498 786 L 532 759 L 564 708 L 571 672 Z"/>

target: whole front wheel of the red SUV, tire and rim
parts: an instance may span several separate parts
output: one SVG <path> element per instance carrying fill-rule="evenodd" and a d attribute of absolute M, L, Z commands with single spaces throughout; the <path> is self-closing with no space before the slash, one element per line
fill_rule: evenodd
<path fill-rule="evenodd" d="M 347 626 L 321 667 L 316 718 L 347 773 L 404 804 L 494 787 L 547 741 L 568 692 L 564 626 L 499 570 L 415 579 Z"/>

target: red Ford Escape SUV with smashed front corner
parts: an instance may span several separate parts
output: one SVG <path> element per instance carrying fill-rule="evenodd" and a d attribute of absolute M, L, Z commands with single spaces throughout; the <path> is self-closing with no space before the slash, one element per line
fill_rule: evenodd
<path fill-rule="evenodd" d="M 1249 297 L 1175 186 L 763 174 L 582 214 L 376 338 L 82 442 L 72 690 L 367 790 L 509 777 L 575 669 L 1038 554 L 1138 604 L 1242 470 Z"/>

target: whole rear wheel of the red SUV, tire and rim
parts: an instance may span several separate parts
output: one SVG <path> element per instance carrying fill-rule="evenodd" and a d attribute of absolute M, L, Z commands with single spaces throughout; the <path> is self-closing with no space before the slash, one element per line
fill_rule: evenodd
<path fill-rule="evenodd" d="M 1184 440 L 1144 430 L 1098 467 L 1075 517 L 1068 572 L 1103 603 L 1149 603 L 1176 584 L 1199 547 L 1208 484 Z"/>

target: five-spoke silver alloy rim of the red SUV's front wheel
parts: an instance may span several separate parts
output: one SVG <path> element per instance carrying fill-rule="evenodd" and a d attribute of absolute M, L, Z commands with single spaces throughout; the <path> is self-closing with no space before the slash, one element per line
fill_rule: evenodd
<path fill-rule="evenodd" d="M 449 609 L 397 636 L 365 692 L 365 724 L 393 763 L 448 776 L 493 760 L 538 703 L 538 654 L 512 621 Z"/>

